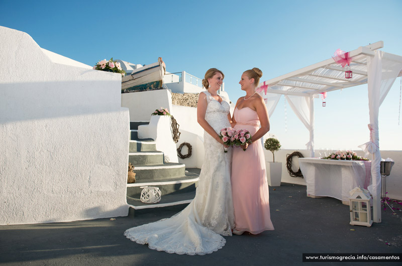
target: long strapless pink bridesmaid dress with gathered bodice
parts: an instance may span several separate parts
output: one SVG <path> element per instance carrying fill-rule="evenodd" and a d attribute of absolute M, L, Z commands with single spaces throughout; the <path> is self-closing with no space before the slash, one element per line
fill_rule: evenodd
<path fill-rule="evenodd" d="M 247 129 L 251 136 L 257 132 L 260 120 L 257 112 L 249 107 L 236 107 L 235 129 Z M 268 182 L 266 178 L 265 156 L 261 141 L 249 145 L 246 151 L 233 148 L 232 193 L 235 209 L 236 229 L 258 234 L 273 230 L 269 213 Z"/>

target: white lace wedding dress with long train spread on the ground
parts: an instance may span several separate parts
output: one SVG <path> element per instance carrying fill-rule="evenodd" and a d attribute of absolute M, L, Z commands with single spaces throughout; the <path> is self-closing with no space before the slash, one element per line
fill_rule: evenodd
<path fill-rule="evenodd" d="M 219 134 L 229 127 L 230 105 L 215 100 L 208 91 L 205 119 Z M 168 253 L 204 255 L 222 248 L 232 235 L 234 212 L 230 173 L 232 149 L 224 153 L 224 146 L 204 132 L 205 157 L 195 198 L 181 212 L 168 219 L 133 227 L 124 235 L 139 244 Z"/>

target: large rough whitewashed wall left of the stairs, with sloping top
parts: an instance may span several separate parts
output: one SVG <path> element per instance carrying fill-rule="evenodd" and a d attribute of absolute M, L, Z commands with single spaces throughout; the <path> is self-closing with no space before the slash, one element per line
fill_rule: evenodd
<path fill-rule="evenodd" d="M 127 215 L 120 74 L 0 36 L 0 224 Z"/>

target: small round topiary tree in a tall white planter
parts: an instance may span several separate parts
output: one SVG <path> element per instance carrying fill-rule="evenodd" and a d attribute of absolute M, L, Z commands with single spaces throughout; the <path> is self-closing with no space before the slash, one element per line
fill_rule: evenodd
<path fill-rule="evenodd" d="M 282 163 L 275 163 L 275 152 L 279 151 L 280 143 L 276 138 L 268 138 L 265 140 L 264 147 L 272 153 L 273 162 L 267 162 L 267 179 L 268 185 L 271 187 L 279 187 L 282 179 Z"/>

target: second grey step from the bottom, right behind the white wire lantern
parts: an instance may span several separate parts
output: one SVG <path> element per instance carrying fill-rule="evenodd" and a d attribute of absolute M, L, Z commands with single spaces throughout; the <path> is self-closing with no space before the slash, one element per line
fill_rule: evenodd
<path fill-rule="evenodd" d="M 172 181 L 160 182 L 136 182 L 134 184 L 127 184 L 127 196 L 139 199 L 141 197 L 142 187 L 158 187 L 162 196 L 170 194 L 179 194 L 195 191 L 198 182 L 198 175 L 186 173 L 186 176 L 177 178 Z"/>

